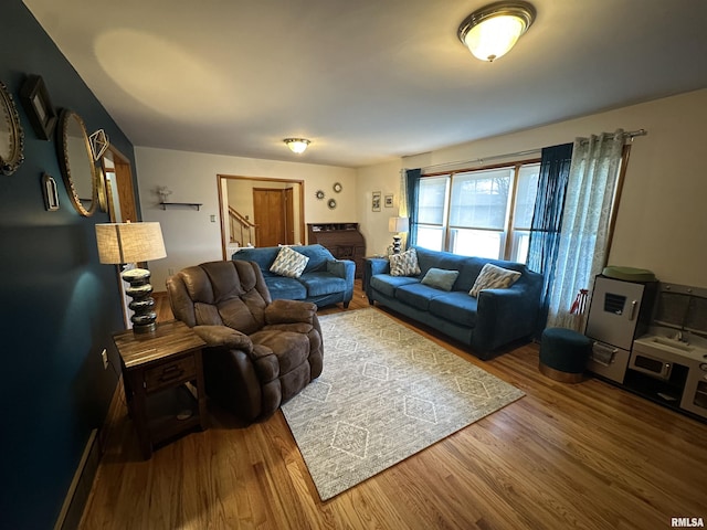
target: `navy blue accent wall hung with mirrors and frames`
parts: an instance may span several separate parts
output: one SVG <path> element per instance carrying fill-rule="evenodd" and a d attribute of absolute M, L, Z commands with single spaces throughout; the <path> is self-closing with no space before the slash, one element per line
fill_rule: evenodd
<path fill-rule="evenodd" d="M 124 328 L 117 269 L 101 265 L 94 224 L 61 178 L 55 140 L 41 140 L 19 100 L 25 75 L 44 78 L 52 103 L 103 128 L 133 166 L 133 145 L 21 0 L 0 6 L 0 81 L 24 130 L 24 162 L 0 174 L 0 528 L 52 528 L 91 431 L 101 427 L 117 377 L 104 371 L 112 335 Z M 60 210 L 44 210 L 41 176 L 59 184 Z M 137 190 L 137 184 L 135 186 Z"/>

